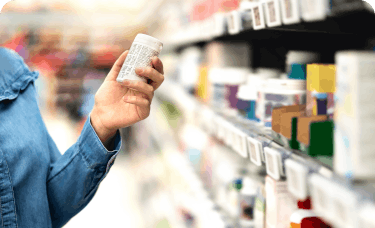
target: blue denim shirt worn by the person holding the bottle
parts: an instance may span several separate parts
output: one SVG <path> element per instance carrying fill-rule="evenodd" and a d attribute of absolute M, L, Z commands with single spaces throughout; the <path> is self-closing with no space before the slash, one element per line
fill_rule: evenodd
<path fill-rule="evenodd" d="M 42 120 L 32 72 L 0 47 L 0 227 L 62 227 L 93 198 L 121 147 L 108 151 L 86 121 L 63 155 Z"/>

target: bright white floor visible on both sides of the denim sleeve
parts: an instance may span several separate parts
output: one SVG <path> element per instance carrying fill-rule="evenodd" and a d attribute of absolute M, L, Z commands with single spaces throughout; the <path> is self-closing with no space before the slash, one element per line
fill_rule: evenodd
<path fill-rule="evenodd" d="M 64 153 L 78 137 L 73 125 L 63 114 L 43 113 L 43 118 L 57 147 Z M 143 227 L 134 183 L 129 159 L 120 154 L 93 200 L 65 228 Z"/>

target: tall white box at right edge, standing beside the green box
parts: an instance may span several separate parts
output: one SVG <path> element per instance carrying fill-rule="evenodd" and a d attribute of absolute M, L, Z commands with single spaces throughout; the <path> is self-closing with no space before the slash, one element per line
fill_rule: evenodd
<path fill-rule="evenodd" d="M 336 53 L 335 172 L 375 178 L 375 53 Z"/>

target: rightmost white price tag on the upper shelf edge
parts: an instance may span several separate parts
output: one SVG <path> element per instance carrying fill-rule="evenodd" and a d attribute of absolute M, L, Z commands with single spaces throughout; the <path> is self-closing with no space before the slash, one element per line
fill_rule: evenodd
<path fill-rule="evenodd" d="M 301 0 L 301 12 L 304 21 L 321 21 L 326 19 L 329 9 L 327 0 Z"/>

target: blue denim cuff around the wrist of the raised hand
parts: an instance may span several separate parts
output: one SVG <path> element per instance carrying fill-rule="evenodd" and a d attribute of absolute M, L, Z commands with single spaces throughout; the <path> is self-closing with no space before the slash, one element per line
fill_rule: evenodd
<path fill-rule="evenodd" d="M 86 160 L 89 168 L 103 169 L 106 167 L 105 172 L 108 172 L 122 146 L 120 131 L 117 130 L 115 135 L 115 149 L 108 151 L 92 127 L 89 116 L 82 129 L 79 146 L 81 154 Z"/>

